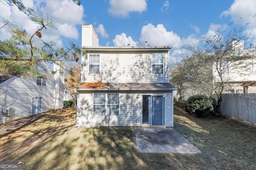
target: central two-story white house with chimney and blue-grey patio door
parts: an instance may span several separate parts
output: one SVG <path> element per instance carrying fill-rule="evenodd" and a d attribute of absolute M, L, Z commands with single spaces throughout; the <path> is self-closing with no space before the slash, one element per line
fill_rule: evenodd
<path fill-rule="evenodd" d="M 167 47 L 99 47 L 82 26 L 81 84 L 75 89 L 77 126 L 173 126 Z"/>

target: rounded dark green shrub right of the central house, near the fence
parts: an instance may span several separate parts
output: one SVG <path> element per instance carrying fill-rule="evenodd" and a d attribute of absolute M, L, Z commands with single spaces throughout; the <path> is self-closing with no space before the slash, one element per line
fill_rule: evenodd
<path fill-rule="evenodd" d="M 212 102 L 206 95 L 197 94 L 188 98 L 187 110 L 189 114 L 205 117 L 210 114 L 211 109 Z"/>

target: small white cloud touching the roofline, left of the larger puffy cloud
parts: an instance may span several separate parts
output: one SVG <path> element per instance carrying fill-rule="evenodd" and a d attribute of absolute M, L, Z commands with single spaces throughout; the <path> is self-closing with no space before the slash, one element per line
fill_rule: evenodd
<path fill-rule="evenodd" d="M 121 35 L 116 35 L 115 39 L 113 39 L 114 46 L 117 47 L 125 47 L 128 44 L 132 47 L 136 47 L 138 42 L 133 41 L 132 37 L 126 37 L 125 33 L 121 33 Z"/>

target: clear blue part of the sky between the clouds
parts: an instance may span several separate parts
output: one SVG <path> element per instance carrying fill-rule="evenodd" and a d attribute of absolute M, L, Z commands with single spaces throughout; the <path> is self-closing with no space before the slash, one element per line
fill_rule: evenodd
<path fill-rule="evenodd" d="M 115 35 L 121 33 L 140 42 L 141 29 L 148 23 L 152 23 L 154 26 L 163 24 L 167 31 L 173 31 L 180 37 L 186 37 L 191 34 L 207 33 L 211 23 L 230 22 L 230 17 L 220 18 L 222 12 L 228 10 L 232 5 L 233 1 L 230 0 L 170 0 L 167 2 L 168 6 L 163 7 L 166 3 L 165 0 L 148 0 L 146 1 L 146 10 L 143 12 L 129 12 L 128 16 L 122 17 L 108 12 L 110 8 L 108 1 L 86 0 L 82 1 L 86 14 L 84 21 L 86 24 L 93 24 L 94 28 L 97 28 L 100 23 L 104 25 L 109 37 L 104 38 L 99 35 L 99 43 L 102 46 L 107 42 L 113 46 Z M 197 27 L 200 32 L 196 32 L 193 27 Z"/>

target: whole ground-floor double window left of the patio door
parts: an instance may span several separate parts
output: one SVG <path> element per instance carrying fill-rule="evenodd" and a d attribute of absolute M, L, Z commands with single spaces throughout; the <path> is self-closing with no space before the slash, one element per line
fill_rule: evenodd
<path fill-rule="evenodd" d="M 94 94 L 93 115 L 97 116 L 118 116 L 119 115 L 119 94 Z"/>

